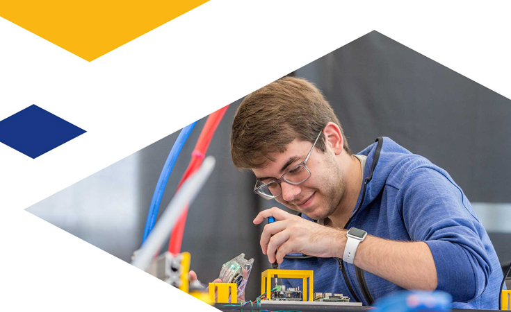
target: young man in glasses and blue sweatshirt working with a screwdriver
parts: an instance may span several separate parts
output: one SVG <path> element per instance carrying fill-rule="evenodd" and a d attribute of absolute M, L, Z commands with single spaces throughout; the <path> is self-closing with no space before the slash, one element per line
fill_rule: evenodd
<path fill-rule="evenodd" d="M 503 274 L 462 189 L 386 137 L 353 155 L 307 80 L 286 77 L 249 94 L 234 117 L 231 154 L 254 172 L 255 193 L 300 213 L 274 207 L 254 223 L 277 219 L 261 234 L 263 253 L 279 268 L 314 270 L 316 292 L 371 304 L 403 288 L 436 289 L 453 296 L 453 308 L 497 309 Z"/>

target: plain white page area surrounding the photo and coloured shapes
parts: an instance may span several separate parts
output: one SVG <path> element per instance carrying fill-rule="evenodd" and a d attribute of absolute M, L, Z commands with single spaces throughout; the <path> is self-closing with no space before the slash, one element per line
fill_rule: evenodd
<path fill-rule="evenodd" d="M 0 19 L 0 120 L 88 131 L 0 144 L 0 310 L 215 311 L 23 209 L 373 30 L 511 98 L 508 3 L 212 0 L 92 62 Z"/>

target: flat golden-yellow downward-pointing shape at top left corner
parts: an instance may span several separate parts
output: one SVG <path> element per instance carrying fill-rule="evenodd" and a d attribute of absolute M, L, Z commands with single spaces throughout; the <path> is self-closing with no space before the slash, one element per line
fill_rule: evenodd
<path fill-rule="evenodd" d="M 0 16 L 92 61 L 207 1 L 1 0 Z"/>

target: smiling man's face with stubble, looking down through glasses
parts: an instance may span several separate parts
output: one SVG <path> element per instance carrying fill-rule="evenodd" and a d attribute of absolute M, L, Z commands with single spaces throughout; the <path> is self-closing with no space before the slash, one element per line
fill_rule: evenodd
<path fill-rule="evenodd" d="M 284 153 L 271 153 L 275 162 L 268 161 L 265 167 L 252 169 L 262 182 L 278 179 L 296 164 L 307 157 L 312 143 L 307 141 L 291 141 Z M 327 218 L 339 206 L 346 193 L 346 180 L 343 170 L 339 168 L 332 150 L 327 147 L 326 153 L 314 148 L 307 162 L 311 171 L 309 179 L 302 184 L 293 185 L 282 181 L 282 193 L 275 198 L 289 209 L 299 211 L 315 220 Z"/>

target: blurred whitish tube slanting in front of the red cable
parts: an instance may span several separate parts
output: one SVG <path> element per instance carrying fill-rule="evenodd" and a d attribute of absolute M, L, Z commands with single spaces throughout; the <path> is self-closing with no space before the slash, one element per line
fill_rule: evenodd
<path fill-rule="evenodd" d="M 145 270 L 147 266 L 149 266 L 152 257 L 177 222 L 181 211 L 185 209 L 188 203 L 193 202 L 204 186 L 204 183 L 206 183 L 206 180 L 211 175 L 214 166 L 215 158 L 213 156 L 207 157 L 204 159 L 204 164 L 200 167 L 199 171 L 184 182 L 183 187 L 177 191 L 176 195 L 170 200 L 167 209 L 163 211 L 158 224 L 154 227 L 154 231 L 149 234 L 147 241 L 131 262 L 133 266 L 142 270 Z"/>

